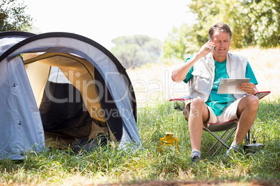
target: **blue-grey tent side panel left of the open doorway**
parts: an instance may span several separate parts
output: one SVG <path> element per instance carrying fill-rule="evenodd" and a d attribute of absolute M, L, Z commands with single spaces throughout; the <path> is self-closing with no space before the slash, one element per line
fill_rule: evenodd
<path fill-rule="evenodd" d="M 44 131 L 21 57 L 0 64 L 0 155 L 19 159 L 26 151 L 42 149 Z"/>

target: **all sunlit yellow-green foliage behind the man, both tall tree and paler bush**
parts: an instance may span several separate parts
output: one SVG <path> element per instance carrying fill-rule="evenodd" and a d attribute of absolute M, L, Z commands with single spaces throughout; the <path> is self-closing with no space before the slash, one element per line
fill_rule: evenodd
<path fill-rule="evenodd" d="M 164 56 L 185 59 L 186 53 L 199 51 L 209 40 L 209 28 L 218 22 L 231 27 L 233 48 L 279 47 L 279 7 L 278 0 L 192 1 L 189 8 L 196 15 L 196 24 L 173 28 L 164 43 Z"/>

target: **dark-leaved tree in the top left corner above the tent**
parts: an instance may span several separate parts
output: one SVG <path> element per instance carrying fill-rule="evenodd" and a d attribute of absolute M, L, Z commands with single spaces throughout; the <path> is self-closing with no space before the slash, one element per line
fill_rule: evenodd
<path fill-rule="evenodd" d="M 27 31 L 33 19 L 24 12 L 26 7 L 22 1 L 1 0 L 0 31 Z"/>

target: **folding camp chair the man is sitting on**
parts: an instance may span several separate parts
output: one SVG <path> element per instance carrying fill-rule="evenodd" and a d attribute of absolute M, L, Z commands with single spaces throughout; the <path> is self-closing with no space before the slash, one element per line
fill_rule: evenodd
<path fill-rule="evenodd" d="M 264 96 L 266 96 L 267 94 L 270 94 L 270 91 L 267 92 L 258 92 L 255 94 L 255 96 L 258 97 L 258 99 L 262 99 Z M 182 96 L 182 97 L 178 97 L 175 99 L 169 99 L 169 101 L 173 101 L 174 102 L 174 108 L 176 110 L 179 111 L 183 111 L 185 108 L 186 103 L 188 103 L 190 101 L 190 97 L 189 96 Z M 226 121 L 220 124 L 210 124 L 210 126 L 205 127 L 203 125 L 203 130 L 207 131 L 208 133 L 210 133 L 213 137 L 215 137 L 217 139 L 217 142 L 215 142 L 215 144 L 212 145 L 212 147 L 209 149 L 208 153 L 210 153 L 210 151 L 212 151 L 212 149 L 220 142 L 220 146 L 217 148 L 217 150 L 212 154 L 212 156 L 214 156 L 220 149 L 222 146 L 226 146 L 226 148 L 230 148 L 230 146 L 228 146 L 228 144 L 226 144 L 226 142 L 228 141 L 228 139 L 233 135 L 233 133 L 235 132 L 235 130 L 238 128 L 238 120 L 235 121 Z M 231 131 L 229 131 L 231 130 Z M 221 136 L 217 136 L 215 134 L 215 132 L 221 132 L 224 131 L 224 133 L 221 134 Z M 226 138 L 224 140 L 222 140 L 222 138 L 224 137 L 224 135 L 226 135 L 226 133 L 228 133 L 228 135 L 226 136 Z M 256 142 L 254 142 L 256 143 Z M 246 137 L 245 137 L 245 146 L 248 146 L 250 144 L 250 130 L 248 131 Z"/>

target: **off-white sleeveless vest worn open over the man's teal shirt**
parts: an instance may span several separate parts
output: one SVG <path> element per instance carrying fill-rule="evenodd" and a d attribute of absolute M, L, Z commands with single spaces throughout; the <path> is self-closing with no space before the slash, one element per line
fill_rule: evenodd
<path fill-rule="evenodd" d="M 226 56 L 226 72 L 229 78 L 245 78 L 247 58 L 228 53 Z M 192 99 L 201 98 L 208 101 L 215 78 L 215 62 L 212 53 L 194 64 L 193 78 L 189 80 L 189 95 Z M 245 94 L 234 94 L 235 99 Z"/>

